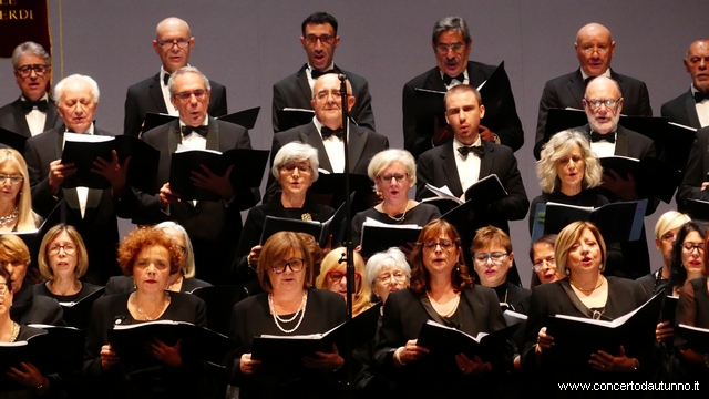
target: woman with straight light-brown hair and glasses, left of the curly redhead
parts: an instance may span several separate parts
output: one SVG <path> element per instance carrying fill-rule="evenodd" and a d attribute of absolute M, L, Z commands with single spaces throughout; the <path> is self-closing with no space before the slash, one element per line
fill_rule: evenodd
<path fill-rule="evenodd" d="M 59 224 L 50 228 L 42 238 L 38 262 L 45 282 L 32 287 L 34 295 L 75 303 L 101 288 L 80 280 L 89 269 L 89 255 L 73 226 Z"/>

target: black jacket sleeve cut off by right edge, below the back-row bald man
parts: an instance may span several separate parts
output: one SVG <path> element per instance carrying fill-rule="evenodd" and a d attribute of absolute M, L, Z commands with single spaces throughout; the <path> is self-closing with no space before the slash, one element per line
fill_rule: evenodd
<path fill-rule="evenodd" d="M 701 190 L 701 184 L 707 181 L 709 173 L 709 126 L 697 131 L 697 139 L 689 152 L 689 161 L 682 184 L 677 190 L 677 208 L 685 211 L 687 200 L 709 201 L 709 191 Z"/>

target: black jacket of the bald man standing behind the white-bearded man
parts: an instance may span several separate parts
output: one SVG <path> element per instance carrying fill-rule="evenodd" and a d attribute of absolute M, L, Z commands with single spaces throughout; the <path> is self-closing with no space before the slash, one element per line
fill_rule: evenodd
<path fill-rule="evenodd" d="M 623 114 L 637 116 L 653 116 L 650 95 L 645 82 L 615 73 L 610 70 L 610 78 L 618 82 L 623 94 Z M 552 79 L 544 85 L 540 100 L 540 116 L 536 122 L 536 137 L 534 140 L 534 157 L 540 158 L 544 141 L 544 129 L 549 109 L 565 109 L 567 106 L 583 110 L 582 100 L 586 94 L 586 84 L 580 69 L 575 72 Z"/>

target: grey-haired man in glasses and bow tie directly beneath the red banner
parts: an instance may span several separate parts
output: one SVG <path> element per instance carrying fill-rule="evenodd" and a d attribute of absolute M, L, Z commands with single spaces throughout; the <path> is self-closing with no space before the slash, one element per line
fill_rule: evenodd
<path fill-rule="evenodd" d="M 52 58 L 44 48 L 24 42 L 12 52 L 14 81 L 22 94 L 0 108 L 0 127 L 25 137 L 60 126 L 54 100 L 47 94 L 52 78 Z"/>

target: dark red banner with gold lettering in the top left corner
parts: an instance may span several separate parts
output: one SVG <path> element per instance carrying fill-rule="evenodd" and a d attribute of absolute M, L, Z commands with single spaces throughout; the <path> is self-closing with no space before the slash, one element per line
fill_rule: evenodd
<path fill-rule="evenodd" d="M 52 53 L 48 0 L 0 0 L 0 58 L 25 41 L 42 44 Z"/>

